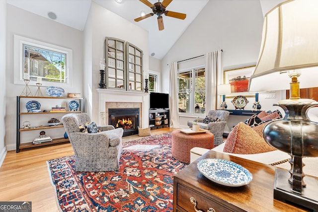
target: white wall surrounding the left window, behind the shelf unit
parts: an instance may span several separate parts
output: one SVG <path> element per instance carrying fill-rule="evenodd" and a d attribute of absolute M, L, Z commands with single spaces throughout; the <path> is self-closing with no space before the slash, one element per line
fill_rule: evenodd
<path fill-rule="evenodd" d="M 48 18 L 33 14 L 26 10 L 7 4 L 6 32 L 6 118 L 5 144 L 8 150 L 15 149 L 16 141 L 16 96 L 19 96 L 24 85 L 13 84 L 13 35 L 39 40 L 73 50 L 73 87 L 65 89 L 65 93 L 82 93 L 83 72 L 83 32 L 60 24 Z M 31 92 L 36 87 L 31 86 Z M 45 94 L 45 87 L 42 88 Z M 51 117 L 53 118 L 53 117 Z M 30 121 L 30 120 L 28 120 Z M 34 123 L 33 123 L 34 124 Z M 32 123 L 31 123 L 32 125 Z M 36 126 L 35 124 L 32 126 Z"/>

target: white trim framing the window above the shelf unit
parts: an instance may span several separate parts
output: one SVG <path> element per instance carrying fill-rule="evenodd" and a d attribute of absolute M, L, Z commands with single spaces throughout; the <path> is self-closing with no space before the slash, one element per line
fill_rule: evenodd
<path fill-rule="evenodd" d="M 50 51 L 61 52 L 66 54 L 65 81 L 66 83 L 42 81 L 42 86 L 58 86 L 64 88 L 72 87 L 72 71 L 73 71 L 73 51 L 64 47 L 53 44 L 25 38 L 14 35 L 14 84 L 25 84 L 23 80 L 23 45 L 30 45 L 37 48 L 47 49 Z M 30 81 L 29 85 L 36 85 L 36 81 Z"/>

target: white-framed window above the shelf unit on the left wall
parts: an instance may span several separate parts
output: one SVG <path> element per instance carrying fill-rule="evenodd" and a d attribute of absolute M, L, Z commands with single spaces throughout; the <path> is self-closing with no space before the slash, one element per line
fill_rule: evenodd
<path fill-rule="evenodd" d="M 14 83 L 71 87 L 72 50 L 14 35 Z"/>

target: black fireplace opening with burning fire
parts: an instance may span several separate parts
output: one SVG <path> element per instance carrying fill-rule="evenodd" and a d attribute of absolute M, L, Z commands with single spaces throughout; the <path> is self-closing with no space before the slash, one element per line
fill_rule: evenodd
<path fill-rule="evenodd" d="M 108 123 L 124 130 L 123 137 L 138 134 L 139 108 L 108 108 Z"/>

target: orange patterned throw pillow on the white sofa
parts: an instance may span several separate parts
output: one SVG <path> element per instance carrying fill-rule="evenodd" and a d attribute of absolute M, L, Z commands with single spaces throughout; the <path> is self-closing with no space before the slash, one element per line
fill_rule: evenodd
<path fill-rule="evenodd" d="M 240 122 L 230 132 L 224 145 L 224 152 L 256 154 L 276 150 L 271 147 L 253 128 Z"/>

